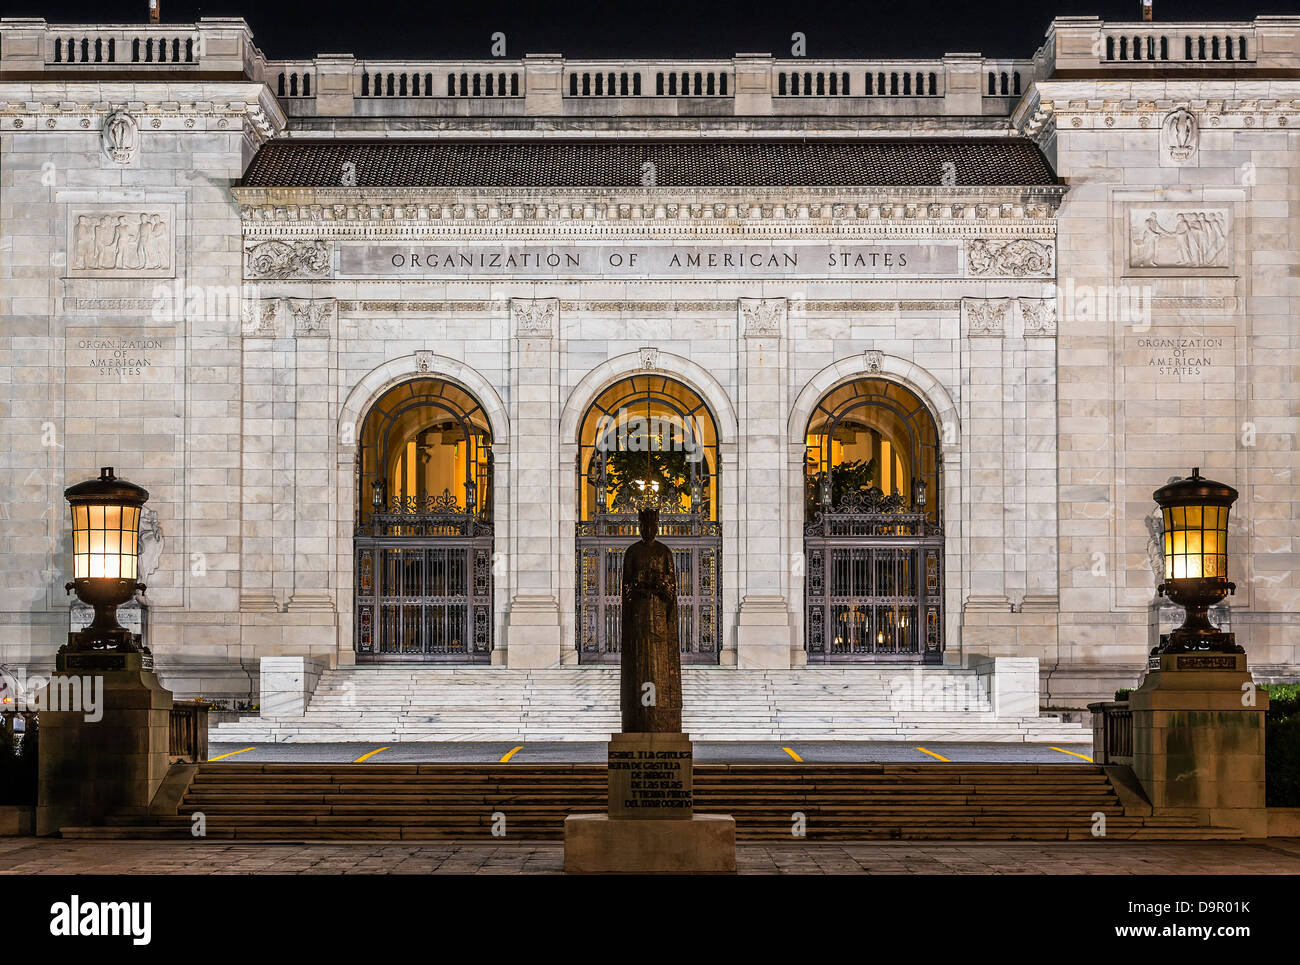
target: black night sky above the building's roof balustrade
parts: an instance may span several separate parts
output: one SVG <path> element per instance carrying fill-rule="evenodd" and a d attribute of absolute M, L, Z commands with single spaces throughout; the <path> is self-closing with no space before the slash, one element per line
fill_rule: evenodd
<path fill-rule="evenodd" d="M 292 0 L 161 0 L 162 20 L 243 17 L 272 60 L 316 53 L 359 57 L 486 59 L 502 31 L 507 56 L 729 57 L 789 56 L 790 34 L 807 36 L 810 57 L 930 57 L 970 51 L 1028 57 L 1054 16 L 1141 18 L 1138 0 L 644 0 L 607 3 L 295 3 Z M 4 0 L 5 17 L 52 23 L 138 23 L 146 0 Z M 1253 20 L 1300 14 L 1300 0 L 1156 0 L 1156 20 Z"/>

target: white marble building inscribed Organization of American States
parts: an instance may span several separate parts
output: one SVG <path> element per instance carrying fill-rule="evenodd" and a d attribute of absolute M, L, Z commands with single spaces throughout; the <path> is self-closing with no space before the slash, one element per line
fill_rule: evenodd
<path fill-rule="evenodd" d="M 182 694 L 615 662 L 653 492 L 689 663 L 1032 657 L 1078 706 L 1170 623 L 1150 494 L 1196 466 L 1242 494 L 1217 618 L 1297 672 L 1297 18 L 1058 18 L 1019 60 L 286 62 L 239 20 L 0 52 L 9 665 L 64 641 L 62 489 L 112 464 Z"/>

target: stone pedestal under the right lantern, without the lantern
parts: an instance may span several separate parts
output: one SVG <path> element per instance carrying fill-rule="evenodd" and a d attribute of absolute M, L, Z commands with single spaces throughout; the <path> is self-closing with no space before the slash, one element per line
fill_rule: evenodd
<path fill-rule="evenodd" d="M 1156 814 L 1268 835 L 1264 711 L 1240 653 L 1165 653 L 1128 697 L 1134 774 Z"/>

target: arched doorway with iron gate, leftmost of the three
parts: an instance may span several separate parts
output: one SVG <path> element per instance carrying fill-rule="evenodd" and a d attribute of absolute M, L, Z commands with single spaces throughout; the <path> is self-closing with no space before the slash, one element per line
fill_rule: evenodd
<path fill-rule="evenodd" d="M 493 628 L 491 428 L 441 378 L 389 389 L 359 441 L 358 662 L 486 663 Z"/>

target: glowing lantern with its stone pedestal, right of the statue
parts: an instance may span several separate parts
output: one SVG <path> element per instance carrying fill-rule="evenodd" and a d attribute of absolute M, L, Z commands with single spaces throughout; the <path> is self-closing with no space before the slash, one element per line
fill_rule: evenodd
<path fill-rule="evenodd" d="M 1268 834 L 1264 805 L 1264 711 L 1245 653 L 1216 628 L 1209 606 L 1235 587 L 1227 579 L 1227 516 L 1236 490 L 1192 469 L 1156 490 L 1165 522 L 1160 592 L 1187 610 L 1161 637 L 1147 678 L 1128 698 L 1134 774 L 1156 814 Z"/>

